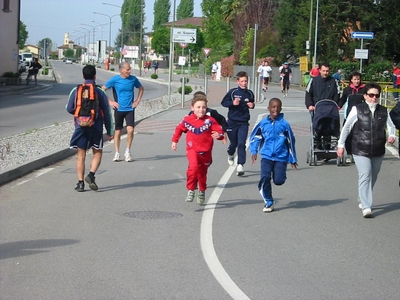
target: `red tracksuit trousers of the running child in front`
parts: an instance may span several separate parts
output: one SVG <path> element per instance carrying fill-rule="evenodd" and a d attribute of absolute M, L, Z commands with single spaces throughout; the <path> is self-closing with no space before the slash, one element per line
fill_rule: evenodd
<path fill-rule="evenodd" d="M 212 163 L 211 151 L 196 152 L 195 150 L 187 150 L 186 157 L 189 166 L 186 171 L 186 188 L 188 190 L 197 189 L 205 192 L 207 189 L 207 170 Z"/>

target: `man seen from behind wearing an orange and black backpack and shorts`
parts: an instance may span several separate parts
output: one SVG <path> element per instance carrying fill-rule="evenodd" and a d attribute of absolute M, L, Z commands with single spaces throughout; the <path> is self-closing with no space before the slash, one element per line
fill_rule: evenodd
<path fill-rule="evenodd" d="M 78 183 L 75 190 L 83 192 L 85 183 L 86 151 L 92 148 L 93 158 L 90 172 L 85 177 L 91 190 L 97 191 L 95 173 L 100 166 L 103 154 L 103 123 L 107 130 L 108 140 L 113 139 L 113 125 L 106 93 L 96 86 L 96 68 L 87 65 L 82 70 L 83 84 L 73 88 L 69 94 L 67 111 L 74 115 L 75 131 L 72 135 L 70 148 L 77 149 L 76 172 Z"/>

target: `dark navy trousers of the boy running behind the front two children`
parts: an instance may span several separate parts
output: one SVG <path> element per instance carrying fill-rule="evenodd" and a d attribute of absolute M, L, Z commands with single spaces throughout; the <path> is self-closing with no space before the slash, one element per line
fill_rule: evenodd
<path fill-rule="evenodd" d="M 246 140 L 249 132 L 249 123 L 231 122 L 228 120 L 226 133 L 229 138 L 228 155 L 234 155 L 236 148 L 238 151 L 238 164 L 246 163 Z"/>

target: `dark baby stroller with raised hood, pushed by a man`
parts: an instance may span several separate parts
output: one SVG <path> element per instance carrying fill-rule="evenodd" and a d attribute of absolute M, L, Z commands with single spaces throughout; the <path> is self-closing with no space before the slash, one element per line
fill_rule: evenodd
<path fill-rule="evenodd" d="M 332 100 L 320 100 L 311 113 L 311 147 L 307 152 L 307 163 L 317 165 L 318 160 L 325 162 L 336 158 L 337 165 L 344 163 L 336 154 L 340 136 L 340 115 L 337 103 Z"/>

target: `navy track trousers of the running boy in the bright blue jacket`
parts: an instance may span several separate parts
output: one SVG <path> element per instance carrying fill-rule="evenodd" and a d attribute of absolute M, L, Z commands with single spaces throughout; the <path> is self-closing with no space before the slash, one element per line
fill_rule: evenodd
<path fill-rule="evenodd" d="M 261 178 L 258 183 L 258 190 L 263 198 L 265 205 L 269 205 L 272 198 L 271 179 L 275 185 L 282 185 L 286 181 L 286 162 L 261 159 Z"/>

